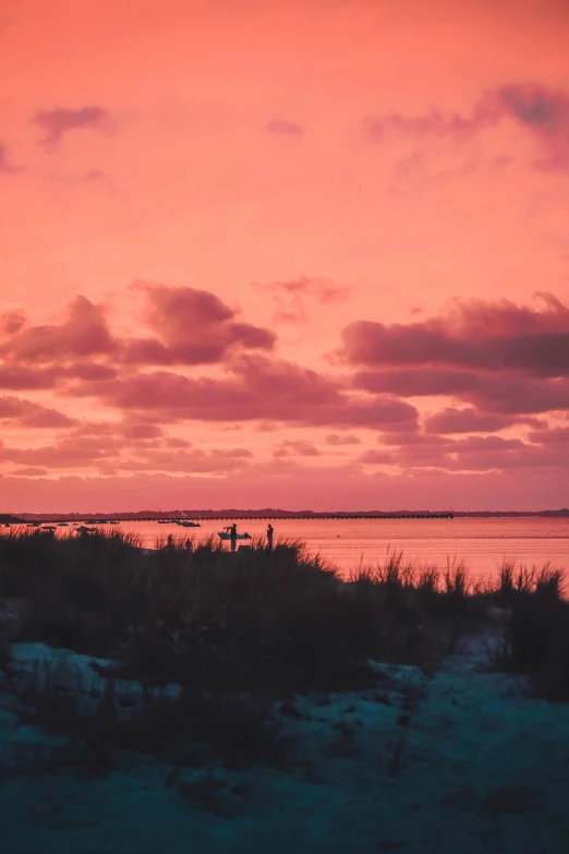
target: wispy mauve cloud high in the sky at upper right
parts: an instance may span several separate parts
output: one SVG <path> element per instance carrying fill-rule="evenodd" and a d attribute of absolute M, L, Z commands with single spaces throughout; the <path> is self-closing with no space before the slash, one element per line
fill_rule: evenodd
<path fill-rule="evenodd" d="M 543 152 L 535 166 L 569 170 L 569 95 L 540 83 L 511 83 L 484 92 L 470 115 L 431 109 L 423 116 L 389 112 L 365 120 L 367 134 L 383 142 L 390 133 L 450 137 L 465 142 L 505 119 L 529 132 Z"/>

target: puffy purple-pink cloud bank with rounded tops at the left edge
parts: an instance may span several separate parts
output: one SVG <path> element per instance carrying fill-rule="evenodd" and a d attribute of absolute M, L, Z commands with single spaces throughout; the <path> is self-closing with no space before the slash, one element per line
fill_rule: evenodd
<path fill-rule="evenodd" d="M 59 386 L 81 396 L 87 387 L 89 394 L 98 384 L 102 388 L 121 366 L 216 364 L 275 346 L 274 333 L 242 322 L 207 291 L 142 284 L 135 290 L 146 299 L 143 318 L 153 337 L 114 336 L 102 306 L 83 296 L 68 305 L 61 323 L 28 325 L 20 311 L 0 315 L 0 388 Z"/>

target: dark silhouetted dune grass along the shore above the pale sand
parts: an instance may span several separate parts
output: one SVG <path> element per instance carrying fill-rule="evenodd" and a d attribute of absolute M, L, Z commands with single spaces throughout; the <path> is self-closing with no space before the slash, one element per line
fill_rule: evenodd
<path fill-rule="evenodd" d="M 505 666 L 545 678 L 547 663 L 567 677 L 561 581 L 505 563 L 497 581 L 473 582 L 460 563 L 440 570 L 389 552 L 343 582 L 288 541 L 230 554 L 213 539 L 144 550 L 120 531 L 0 538 L 0 596 L 21 615 L 13 639 L 110 655 L 117 675 L 192 690 L 358 688 L 373 679 L 370 659 L 435 664 L 489 605 L 512 609 Z"/>

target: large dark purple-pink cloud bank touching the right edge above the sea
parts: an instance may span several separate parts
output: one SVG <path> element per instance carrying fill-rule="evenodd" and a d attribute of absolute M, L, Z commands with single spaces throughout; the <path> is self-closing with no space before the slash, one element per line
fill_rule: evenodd
<path fill-rule="evenodd" d="M 535 294 L 533 305 L 455 300 L 443 314 L 407 324 L 359 321 L 342 339 L 337 356 L 360 368 L 355 389 L 450 396 L 481 416 L 518 414 L 516 423 L 569 407 L 569 308 L 548 293 Z"/>

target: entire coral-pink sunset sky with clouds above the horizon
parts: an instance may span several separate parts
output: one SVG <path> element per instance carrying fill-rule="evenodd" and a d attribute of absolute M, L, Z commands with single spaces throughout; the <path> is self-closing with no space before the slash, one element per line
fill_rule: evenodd
<path fill-rule="evenodd" d="M 565 0 L 1 0 L 0 510 L 542 509 Z"/>

